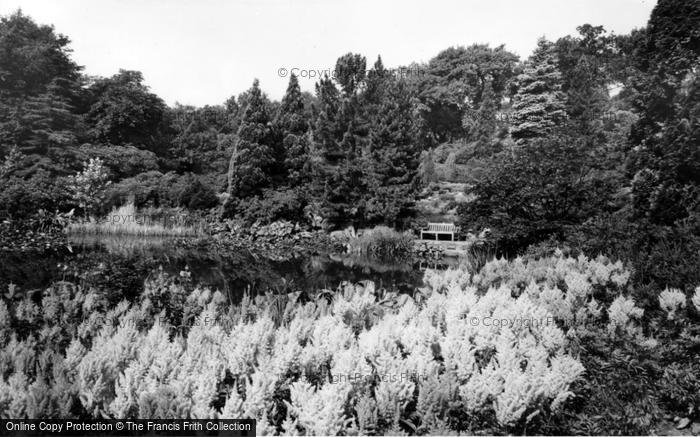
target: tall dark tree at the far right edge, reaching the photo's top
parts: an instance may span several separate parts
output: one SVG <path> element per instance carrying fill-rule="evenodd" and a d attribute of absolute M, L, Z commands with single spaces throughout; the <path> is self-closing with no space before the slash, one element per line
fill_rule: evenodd
<path fill-rule="evenodd" d="M 637 218 L 700 220 L 700 4 L 661 0 L 637 57 L 629 170 Z"/>

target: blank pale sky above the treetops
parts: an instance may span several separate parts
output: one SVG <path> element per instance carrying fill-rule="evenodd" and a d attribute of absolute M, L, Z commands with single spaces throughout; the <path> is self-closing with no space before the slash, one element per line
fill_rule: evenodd
<path fill-rule="evenodd" d="M 259 78 L 279 99 L 280 69 L 332 69 L 349 51 L 384 65 L 425 62 L 457 45 L 505 44 L 521 58 L 537 38 L 603 25 L 627 33 L 646 24 L 653 0 L 0 0 L 72 40 L 91 75 L 143 72 L 168 104 L 223 103 Z M 311 73 L 306 73 L 311 74 Z M 315 80 L 300 78 L 312 91 Z"/>

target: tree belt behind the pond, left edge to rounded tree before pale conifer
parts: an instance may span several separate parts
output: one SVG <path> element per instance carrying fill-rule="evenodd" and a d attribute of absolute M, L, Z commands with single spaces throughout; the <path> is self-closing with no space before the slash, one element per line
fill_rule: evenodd
<path fill-rule="evenodd" d="M 100 158 L 112 180 L 103 211 L 133 198 L 220 204 L 223 217 L 249 222 L 404 226 L 415 214 L 421 152 L 490 138 L 484 111 L 500 108 L 517 70 L 515 55 L 486 45 L 450 48 L 404 76 L 349 53 L 315 95 L 292 77 L 281 102 L 256 81 L 220 106 L 168 107 L 137 71 L 83 74 L 69 39 L 20 11 L 0 27 L 0 213 L 14 218 L 80 210 L 65 178 Z M 201 201 L 182 195 L 190 184 Z"/>

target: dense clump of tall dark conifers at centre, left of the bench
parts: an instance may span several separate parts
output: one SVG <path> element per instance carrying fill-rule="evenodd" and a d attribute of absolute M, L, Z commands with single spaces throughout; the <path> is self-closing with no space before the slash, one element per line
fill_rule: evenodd
<path fill-rule="evenodd" d="M 338 60 L 342 93 L 328 78 L 317 85 L 309 191 L 333 225 L 393 225 L 411 215 L 419 182 L 414 102 L 381 58 L 365 73 L 358 56 Z"/>

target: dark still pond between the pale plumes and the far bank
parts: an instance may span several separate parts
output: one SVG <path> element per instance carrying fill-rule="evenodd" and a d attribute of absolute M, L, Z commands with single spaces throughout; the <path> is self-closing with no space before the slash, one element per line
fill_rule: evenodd
<path fill-rule="evenodd" d="M 379 261 L 330 253 L 284 254 L 279 259 L 248 250 L 212 253 L 176 247 L 168 239 L 81 238 L 70 245 L 44 251 L 0 252 L 0 291 L 13 283 L 20 292 L 37 292 L 56 281 L 70 281 L 135 296 L 144 280 L 159 269 L 222 291 L 232 301 L 248 292 L 335 288 L 342 281 L 374 281 L 378 287 L 412 292 L 422 285 L 424 263 Z M 431 268 L 456 265 L 446 258 Z"/>

